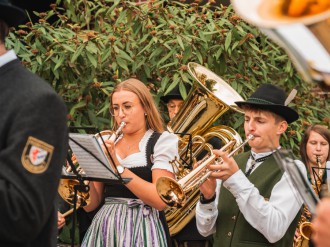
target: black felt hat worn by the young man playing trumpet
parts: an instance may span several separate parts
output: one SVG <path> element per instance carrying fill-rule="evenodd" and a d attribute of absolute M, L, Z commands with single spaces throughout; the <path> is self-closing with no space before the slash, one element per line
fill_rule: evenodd
<path fill-rule="evenodd" d="M 262 84 L 246 101 L 235 102 L 238 107 L 251 105 L 282 116 L 288 123 L 299 118 L 298 113 L 285 105 L 286 93 L 271 84 Z"/>

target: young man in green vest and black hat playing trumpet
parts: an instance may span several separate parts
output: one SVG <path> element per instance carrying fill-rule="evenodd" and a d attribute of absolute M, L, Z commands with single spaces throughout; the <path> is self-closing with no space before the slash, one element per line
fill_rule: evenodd
<path fill-rule="evenodd" d="M 303 202 L 273 155 L 298 119 L 285 101 L 282 89 L 263 84 L 235 102 L 244 111 L 246 138 L 254 138 L 251 150 L 235 157 L 215 150 L 223 161 L 210 166 L 213 173 L 200 187 L 197 227 L 202 235 L 214 234 L 213 246 L 292 246 Z M 303 163 L 297 165 L 306 175 Z"/>

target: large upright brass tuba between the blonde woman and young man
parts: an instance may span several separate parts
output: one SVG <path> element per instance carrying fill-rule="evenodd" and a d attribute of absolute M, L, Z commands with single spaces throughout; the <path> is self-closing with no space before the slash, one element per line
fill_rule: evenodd
<path fill-rule="evenodd" d="M 203 153 L 212 153 L 213 147 L 209 143 L 212 138 L 218 138 L 224 145 L 234 140 L 233 148 L 242 143 L 239 134 L 231 127 L 211 127 L 228 110 L 241 112 L 234 102 L 243 100 L 242 97 L 218 75 L 199 64 L 189 63 L 188 71 L 195 81 L 179 112 L 167 126 L 169 132 L 176 133 L 179 137 L 180 159 L 171 162 L 176 180 L 188 176 L 192 171 L 192 163 L 203 156 Z M 191 152 L 188 152 L 189 146 Z M 242 150 L 238 148 L 237 152 Z M 197 183 L 199 180 L 200 178 L 196 178 Z M 164 210 L 172 236 L 180 232 L 195 216 L 200 192 L 198 186 L 193 187 L 185 193 L 185 203 L 181 208 L 168 206 Z"/>

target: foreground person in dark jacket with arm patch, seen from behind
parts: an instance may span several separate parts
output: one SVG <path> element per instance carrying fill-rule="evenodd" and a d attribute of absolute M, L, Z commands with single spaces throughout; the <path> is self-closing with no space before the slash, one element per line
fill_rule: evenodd
<path fill-rule="evenodd" d="M 56 246 L 57 188 L 67 154 L 66 107 L 7 51 L 23 10 L 0 0 L 0 246 Z"/>

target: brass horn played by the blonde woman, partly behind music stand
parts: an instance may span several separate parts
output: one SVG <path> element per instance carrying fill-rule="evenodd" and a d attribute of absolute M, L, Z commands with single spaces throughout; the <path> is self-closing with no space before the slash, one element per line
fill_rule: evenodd
<path fill-rule="evenodd" d="M 116 131 L 104 130 L 104 131 L 101 131 L 101 132 L 95 134 L 95 137 L 97 137 L 97 140 L 100 142 L 101 145 L 103 145 L 104 140 L 115 141 L 124 126 L 125 126 L 125 122 L 122 122 L 119 125 L 119 127 Z M 102 141 L 102 139 L 103 139 L 103 141 Z M 78 174 L 84 175 L 85 172 L 79 166 L 77 160 L 75 160 L 73 162 L 73 164 L 74 164 Z M 72 174 L 73 173 L 72 168 L 69 165 L 67 165 L 67 167 L 63 168 L 63 169 L 65 169 L 64 172 L 63 172 L 64 174 Z M 84 180 L 83 182 L 86 185 L 86 188 L 88 188 L 89 181 Z M 60 180 L 60 184 L 59 184 L 59 187 L 58 187 L 58 193 L 63 198 L 64 201 L 66 201 L 68 204 L 70 204 L 72 206 L 74 204 L 74 199 L 75 199 L 74 198 L 75 197 L 75 186 L 77 186 L 79 184 L 80 184 L 80 182 L 77 179 L 62 178 Z M 78 209 L 79 207 L 85 207 L 89 203 L 90 203 L 89 191 L 87 189 L 86 189 L 86 191 L 78 190 L 77 194 L 76 194 L 76 209 Z M 68 216 L 73 211 L 74 211 L 73 208 L 68 210 L 67 212 L 65 212 L 63 214 L 64 217 Z"/>

